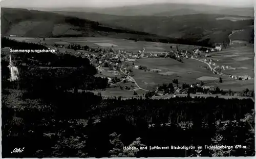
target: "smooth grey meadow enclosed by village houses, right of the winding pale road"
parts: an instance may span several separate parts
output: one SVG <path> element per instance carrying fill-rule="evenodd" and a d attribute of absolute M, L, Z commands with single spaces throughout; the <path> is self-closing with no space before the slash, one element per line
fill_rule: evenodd
<path fill-rule="evenodd" d="M 146 66 L 148 69 L 158 69 L 158 72 L 133 70 L 134 79 L 144 89 L 153 89 L 163 83 L 178 79 L 181 83 L 193 84 L 202 76 L 214 77 L 214 80 L 204 81 L 207 84 L 219 83 L 219 75 L 214 75 L 203 68 L 204 63 L 191 59 L 184 59 L 184 63 L 169 58 L 138 59 L 136 65 Z M 159 70 L 161 70 L 159 72 Z"/>

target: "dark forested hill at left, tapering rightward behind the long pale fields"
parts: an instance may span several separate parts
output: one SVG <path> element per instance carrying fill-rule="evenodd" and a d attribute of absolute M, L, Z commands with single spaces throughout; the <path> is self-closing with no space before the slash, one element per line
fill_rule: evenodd
<path fill-rule="evenodd" d="M 27 9 L 1 9 L 2 36 L 18 37 L 93 37 L 110 36 L 140 41 L 180 43 L 195 46 L 212 47 L 209 38 L 198 37 L 172 38 L 165 35 L 147 33 L 129 29 L 125 25 L 102 23 L 73 15 L 43 12 Z M 140 19 L 140 23 L 144 21 Z M 131 21 L 134 22 L 134 21 Z M 125 24 L 129 22 L 125 21 Z M 138 29 L 138 28 L 137 28 Z"/>

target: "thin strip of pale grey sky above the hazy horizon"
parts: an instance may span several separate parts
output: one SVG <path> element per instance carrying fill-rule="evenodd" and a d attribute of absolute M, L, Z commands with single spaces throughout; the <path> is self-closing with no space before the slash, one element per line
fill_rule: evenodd
<path fill-rule="evenodd" d="M 0 0 L 1 1 L 1 0 Z M 62 7 L 121 7 L 154 3 L 205 4 L 230 7 L 253 7 L 254 0 L 2 0 L 2 7 L 62 8 Z"/>

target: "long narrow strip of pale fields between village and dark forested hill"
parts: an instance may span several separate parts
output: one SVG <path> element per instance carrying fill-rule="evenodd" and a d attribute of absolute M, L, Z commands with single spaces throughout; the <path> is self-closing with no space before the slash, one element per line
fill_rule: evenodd
<path fill-rule="evenodd" d="M 25 40 L 30 42 L 39 42 L 39 39 L 36 38 L 25 38 L 25 37 L 12 37 L 15 40 Z M 146 42 L 146 41 L 132 41 L 126 39 L 117 39 L 110 37 L 76 37 L 76 38 L 45 38 L 45 41 L 48 45 L 54 45 L 54 43 L 63 43 L 67 44 L 80 44 L 83 46 L 89 46 L 92 48 L 111 48 L 114 46 L 113 50 L 129 50 L 133 52 L 138 52 L 139 50 L 143 50 L 145 48 L 145 52 L 163 52 L 169 51 L 170 46 L 176 50 L 176 44 L 170 43 L 160 43 L 160 42 Z M 106 44 L 110 43 L 110 44 Z M 99 45 L 100 46 L 99 46 Z M 178 44 L 179 49 L 188 49 L 193 50 L 195 46 L 188 46 L 183 44 Z"/>

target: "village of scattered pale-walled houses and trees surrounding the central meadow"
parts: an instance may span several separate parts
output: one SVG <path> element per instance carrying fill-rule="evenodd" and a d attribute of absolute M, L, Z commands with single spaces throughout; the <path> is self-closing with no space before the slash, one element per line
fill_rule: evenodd
<path fill-rule="evenodd" d="M 174 95 L 172 97 L 177 97 L 180 94 L 187 94 L 189 88 L 194 88 L 194 93 L 197 95 L 201 94 L 220 94 L 225 95 L 225 93 L 221 92 L 221 90 L 216 89 L 216 86 L 205 86 L 201 81 L 198 83 L 190 83 L 185 84 L 185 86 L 179 86 L 179 82 L 177 84 L 174 83 L 172 88 L 161 88 L 157 86 L 153 90 L 146 90 L 141 88 L 135 81 L 133 76 L 133 69 L 151 71 L 151 69 L 147 68 L 143 65 L 135 65 L 134 62 L 141 58 L 172 58 L 179 62 L 183 62 L 182 59 L 194 59 L 201 61 L 208 65 L 205 69 L 209 70 L 213 74 L 219 74 L 221 76 L 226 76 L 228 78 L 232 78 L 234 80 L 251 80 L 252 78 L 249 76 L 236 76 L 230 74 L 224 74 L 222 71 L 232 69 L 230 66 L 217 65 L 218 60 L 211 59 L 211 53 L 213 52 L 221 52 L 222 46 L 217 46 L 215 49 L 213 48 L 197 48 L 193 50 L 179 50 L 178 44 L 176 45 L 176 49 L 170 47 L 169 51 L 166 52 L 152 52 L 146 51 L 145 48 L 143 50 L 139 50 L 134 53 L 132 51 L 118 50 L 114 47 L 111 48 L 89 48 L 88 46 L 80 46 L 78 44 L 73 44 L 69 46 L 63 46 L 59 44 L 54 44 L 53 46 L 47 46 L 48 49 L 55 50 L 55 54 L 67 54 L 71 53 L 74 56 L 79 56 L 82 58 L 88 58 L 96 69 L 98 70 L 97 76 L 102 78 L 108 78 L 109 87 L 120 87 L 120 89 L 125 88 L 126 90 L 133 90 L 134 96 L 139 97 L 137 95 L 137 90 L 144 90 L 146 93 L 143 96 L 149 96 L 152 98 L 159 98 L 159 96 L 165 95 Z M 10 48 L 4 48 L 2 50 L 9 50 Z M 74 50 L 75 52 L 71 52 Z M 205 58 L 202 60 L 202 58 Z M 105 75 L 108 73 L 108 75 Z M 111 75 L 111 76 L 110 76 Z M 118 77 L 118 78 L 117 78 Z M 120 83 L 131 82 L 133 85 L 131 86 L 121 86 Z M 134 84 L 136 86 L 134 86 Z M 182 83 L 180 84 L 182 85 Z M 197 90 L 196 90 L 197 89 Z M 148 95 L 150 93 L 150 95 Z M 234 95 L 230 94 L 229 95 Z"/>

